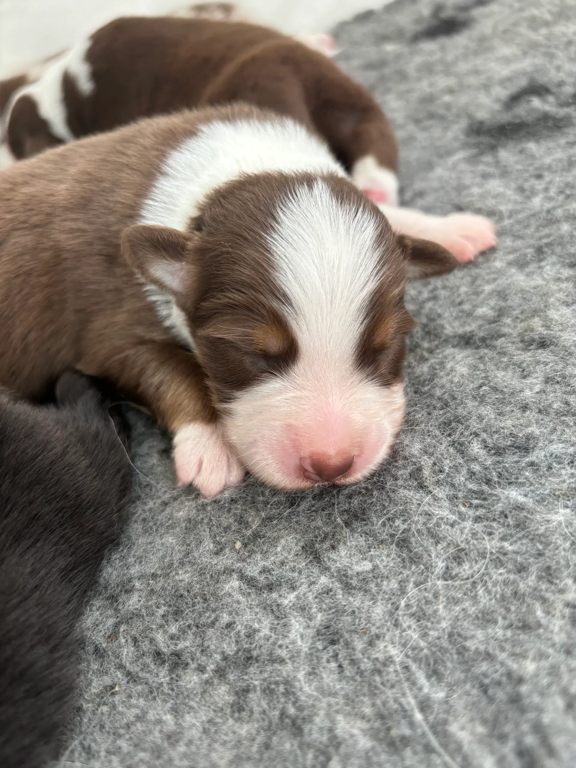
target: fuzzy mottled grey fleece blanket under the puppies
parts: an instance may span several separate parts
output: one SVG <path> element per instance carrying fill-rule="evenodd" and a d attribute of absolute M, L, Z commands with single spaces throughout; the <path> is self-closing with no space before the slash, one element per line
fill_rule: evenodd
<path fill-rule="evenodd" d="M 60 766 L 576 765 L 576 8 L 399 0 L 337 30 L 402 198 L 500 245 L 413 284 L 409 409 L 375 478 L 137 500 L 88 607 Z"/>

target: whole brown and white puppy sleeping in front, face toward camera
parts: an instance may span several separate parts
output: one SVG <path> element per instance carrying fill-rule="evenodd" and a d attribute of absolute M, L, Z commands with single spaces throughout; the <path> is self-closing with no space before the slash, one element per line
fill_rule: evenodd
<path fill-rule="evenodd" d="M 406 279 L 456 264 L 290 118 L 151 118 L 0 174 L 0 383 L 111 380 L 205 495 L 355 482 L 402 424 Z"/>

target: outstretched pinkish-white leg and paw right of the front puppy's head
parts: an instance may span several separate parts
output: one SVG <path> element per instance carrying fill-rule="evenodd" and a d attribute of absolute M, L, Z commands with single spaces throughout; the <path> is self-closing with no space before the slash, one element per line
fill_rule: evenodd
<path fill-rule="evenodd" d="M 496 245 L 496 229 L 492 221 L 475 214 L 449 214 L 429 216 L 411 208 L 379 206 L 392 229 L 410 237 L 421 237 L 439 243 L 459 262 L 472 259 Z"/>

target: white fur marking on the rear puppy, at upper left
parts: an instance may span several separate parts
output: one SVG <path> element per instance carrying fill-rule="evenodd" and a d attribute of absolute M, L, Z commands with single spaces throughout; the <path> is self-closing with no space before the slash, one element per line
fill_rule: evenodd
<path fill-rule="evenodd" d="M 91 38 L 86 38 L 78 45 L 74 45 L 70 51 L 51 62 L 38 81 L 19 88 L 6 109 L 5 124 L 8 125 L 10 111 L 16 99 L 20 96 L 30 96 L 35 101 L 38 114 L 48 124 L 51 134 L 62 141 L 74 141 L 75 136 L 68 126 L 63 78 L 65 73 L 68 73 L 78 91 L 84 96 L 89 96 L 94 91 L 91 68 L 86 61 L 86 53 L 90 46 Z"/>

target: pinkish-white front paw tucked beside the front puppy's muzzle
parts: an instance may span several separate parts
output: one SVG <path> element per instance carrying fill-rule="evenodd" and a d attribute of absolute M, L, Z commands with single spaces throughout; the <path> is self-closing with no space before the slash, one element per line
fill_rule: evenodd
<path fill-rule="evenodd" d="M 193 483 L 207 498 L 238 485 L 244 470 L 215 424 L 195 422 L 174 435 L 174 465 L 178 485 Z"/>

